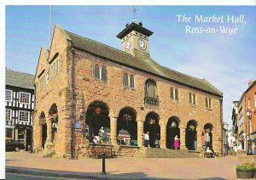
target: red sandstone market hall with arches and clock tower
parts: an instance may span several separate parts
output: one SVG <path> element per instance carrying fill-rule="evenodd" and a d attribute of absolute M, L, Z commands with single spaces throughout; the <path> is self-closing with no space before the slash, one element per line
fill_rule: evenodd
<path fill-rule="evenodd" d="M 119 50 L 55 25 L 38 59 L 34 151 L 79 156 L 104 127 L 115 146 L 125 131 L 142 148 L 149 132 L 149 146 L 160 139 L 161 149 L 174 149 L 177 135 L 180 149 L 201 150 L 208 132 L 222 154 L 223 93 L 151 59 L 151 35 L 142 23 L 127 24 Z"/>

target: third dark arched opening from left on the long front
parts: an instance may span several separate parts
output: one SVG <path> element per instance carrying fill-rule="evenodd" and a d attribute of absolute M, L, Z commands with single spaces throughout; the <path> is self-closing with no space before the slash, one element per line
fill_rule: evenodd
<path fill-rule="evenodd" d="M 159 115 L 149 112 L 143 124 L 143 132 L 149 132 L 149 146 L 155 148 L 156 140 L 160 140 Z"/>

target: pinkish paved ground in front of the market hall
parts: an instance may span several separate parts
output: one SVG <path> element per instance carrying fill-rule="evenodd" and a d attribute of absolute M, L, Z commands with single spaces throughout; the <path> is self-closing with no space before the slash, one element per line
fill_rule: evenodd
<path fill-rule="evenodd" d="M 51 159 L 41 153 L 6 152 L 7 173 L 86 179 L 237 179 L 237 156 L 219 158 Z"/>

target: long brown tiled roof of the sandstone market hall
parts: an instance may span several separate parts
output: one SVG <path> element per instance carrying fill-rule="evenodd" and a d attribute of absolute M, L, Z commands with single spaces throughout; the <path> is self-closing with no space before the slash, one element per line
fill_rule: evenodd
<path fill-rule="evenodd" d="M 68 37 L 71 38 L 74 48 L 83 50 L 84 52 L 92 53 L 96 56 L 111 60 L 121 65 L 127 65 L 137 70 L 143 70 L 155 76 L 161 76 L 172 82 L 181 83 L 189 87 L 195 87 L 197 89 L 204 90 L 208 93 L 213 93 L 218 96 L 222 96 L 223 93 L 218 91 L 216 87 L 213 87 L 210 82 L 205 79 L 195 78 L 188 76 L 183 73 L 177 72 L 176 70 L 168 69 L 164 66 L 159 65 L 153 59 L 150 58 L 137 58 L 132 56 L 130 53 L 125 53 L 119 49 L 109 47 L 108 45 L 102 44 L 90 40 L 86 37 L 80 37 L 72 32 L 65 31 Z"/>

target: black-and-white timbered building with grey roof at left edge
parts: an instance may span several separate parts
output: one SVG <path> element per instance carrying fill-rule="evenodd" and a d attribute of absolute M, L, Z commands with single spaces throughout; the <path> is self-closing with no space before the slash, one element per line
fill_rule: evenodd
<path fill-rule="evenodd" d="M 5 137 L 32 144 L 34 76 L 5 70 Z"/>

